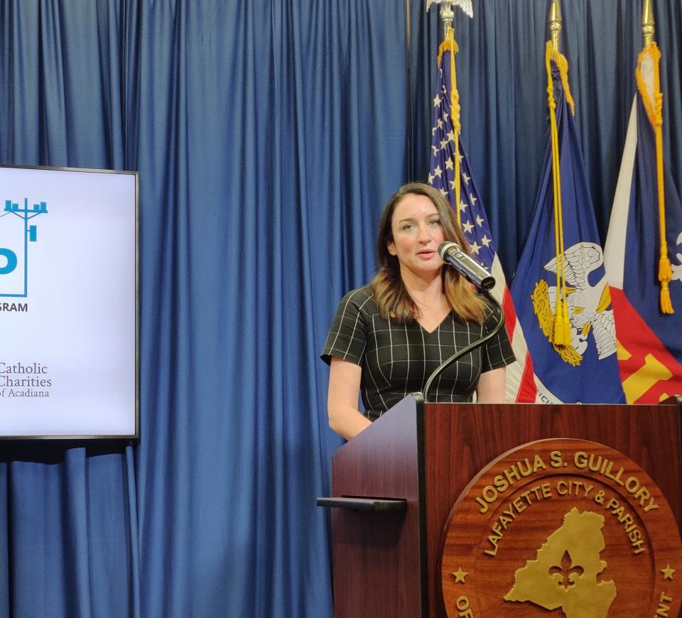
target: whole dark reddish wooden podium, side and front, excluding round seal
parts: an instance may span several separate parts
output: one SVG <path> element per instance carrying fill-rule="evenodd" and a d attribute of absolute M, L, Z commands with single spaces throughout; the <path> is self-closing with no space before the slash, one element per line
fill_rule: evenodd
<path fill-rule="evenodd" d="M 408 396 L 333 455 L 332 497 L 318 503 L 339 507 L 332 509 L 335 618 L 444 617 L 440 552 L 453 505 L 489 462 L 546 438 L 590 440 L 629 457 L 661 489 L 680 526 L 675 399 L 491 405 Z"/>

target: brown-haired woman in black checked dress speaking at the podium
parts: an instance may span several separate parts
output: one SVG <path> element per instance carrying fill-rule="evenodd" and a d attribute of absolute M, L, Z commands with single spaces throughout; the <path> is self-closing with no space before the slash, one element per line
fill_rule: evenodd
<path fill-rule="evenodd" d="M 346 439 L 404 396 L 423 387 L 445 359 L 485 336 L 497 315 L 470 283 L 443 263 L 445 241 L 468 250 L 453 210 L 421 183 L 391 196 L 379 224 L 379 271 L 350 291 L 332 320 L 322 359 L 330 364 L 330 427 Z M 450 365 L 431 386 L 431 401 L 504 402 L 514 353 L 507 332 Z M 362 394 L 365 413 L 358 409 Z"/>

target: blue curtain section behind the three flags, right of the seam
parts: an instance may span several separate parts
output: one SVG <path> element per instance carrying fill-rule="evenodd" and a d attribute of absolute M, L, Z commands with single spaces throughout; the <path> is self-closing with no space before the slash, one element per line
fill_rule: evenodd
<path fill-rule="evenodd" d="M 413 107 L 417 178 L 428 175 L 436 40 L 435 9 L 412 0 Z M 547 143 L 549 0 L 474 1 L 474 18 L 455 11 L 462 139 L 507 277 L 524 247 Z M 582 141 L 597 227 L 605 240 L 642 50 L 641 0 L 563 0 L 561 51 Z M 682 3 L 654 0 L 664 92 L 666 163 L 682 184 Z M 430 62 L 431 60 L 431 62 Z"/>

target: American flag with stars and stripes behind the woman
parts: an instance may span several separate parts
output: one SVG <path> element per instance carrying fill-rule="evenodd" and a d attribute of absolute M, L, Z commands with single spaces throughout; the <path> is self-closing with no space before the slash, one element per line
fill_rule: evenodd
<path fill-rule="evenodd" d="M 451 55 L 457 52 L 454 38 L 446 38 L 438 54 L 438 86 L 433 99 L 433 128 L 431 129 L 431 166 L 428 183 L 438 189 L 443 197 L 458 213 L 462 231 L 469 243 L 472 256 L 480 261 L 495 278 L 493 296 L 504 308 L 505 327 L 516 355 L 516 362 L 507 367 L 507 401 L 534 402 L 537 389 L 534 381 L 533 363 L 526 347 L 521 325 L 516 320 L 514 303 L 504 278 L 492 241 L 492 233 L 483 202 L 476 190 L 469 162 L 465 156 L 462 142 L 455 134 L 453 105 L 450 93 L 453 92 Z M 457 103 L 455 102 L 455 107 Z M 455 109 L 455 116 L 458 110 Z M 455 149 L 458 140 L 458 152 Z M 460 200 L 457 203 L 455 170 L 459 162 Z"/>

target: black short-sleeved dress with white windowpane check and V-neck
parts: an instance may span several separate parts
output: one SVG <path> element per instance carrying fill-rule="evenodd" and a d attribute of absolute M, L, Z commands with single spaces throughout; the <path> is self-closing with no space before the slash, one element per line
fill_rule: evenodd
<path fill-rule="evenodd" d="M 428 332 L 416 320 L 396 324 L 390 318 L 381 318 L 372 290 L 363 286 L 342 298 L 322 359 L 329 364 L 336 357 L 362 367 L 362 403 L 365 414 L 374 421 L 404 396 L 423 391 L 428 377 L 445 359 L 494 328 L 496 314 L 489 306 L 485 321 L 478 325 L 451 312 Z M 503 328 L 482 347 L 445 369 L 431 385 L 429 399 L 470 402 L 482 373 L 511 362 L 514 352 Z"/>

